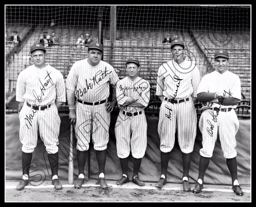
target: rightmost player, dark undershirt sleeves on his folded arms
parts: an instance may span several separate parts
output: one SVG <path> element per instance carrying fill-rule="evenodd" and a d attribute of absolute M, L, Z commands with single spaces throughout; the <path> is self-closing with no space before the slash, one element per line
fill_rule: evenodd
<path fill-rule="evenodd" d="M 202 78 L 197 91 L 198 100 L 203 103 L 199 120 L 203 148 L 200 150 L 198 181 L 193 192 L 200 193 L 203 188 L 204 174 L 219 132 L 221 149 L 232 178 L 232 189 L 236 195 L 242 196 L 243 191 L 237 178 L 235 150 L 239 121 L 234 110 L 241 100 L 241 82 L 238 75 L 227 69 L 229 54 L 226 50 L 217 50 L 214 61 L 216 70 Z"/>

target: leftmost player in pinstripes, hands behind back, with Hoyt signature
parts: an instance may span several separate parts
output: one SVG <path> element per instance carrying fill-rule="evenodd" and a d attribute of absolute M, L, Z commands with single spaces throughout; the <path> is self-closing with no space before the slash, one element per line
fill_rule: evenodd
<path fill-rule="evenodd" d="M 19 113 L 23 177 L 17 190 L 23 190 L 29 183 L 29 167 L 37 144 L 38 129 L 48 152 L 52 184 L 60 190 L 57 144 L 61 120 L 58 108 L 66 102 L 65 82 L 61 72 L 45 63 L 46 49 L 43 45 L 35 43 L 30 52 L 34 64 L 20 72 L 17 78 L 16 101 L 21 102 L 19 110 L 24 103 Z"/>

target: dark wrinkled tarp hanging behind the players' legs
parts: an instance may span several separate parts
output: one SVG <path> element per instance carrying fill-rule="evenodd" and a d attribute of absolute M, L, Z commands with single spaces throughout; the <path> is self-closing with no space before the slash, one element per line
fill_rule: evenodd
<path fill-rule="evenodd" d="M 60 113 L 61 127 L 59 135 L 59 170 L 58 175 L 61 180 L 68 179 L 68 164 L 69 164 L 69 149 L 70 149 L 70 123 L 67 113 Z M 116 154 L 116 138 L 114 134 L 114 126 L 116 122 L 116 115 L 111 116 L 111 125 L 109 129 L 110 139 L 107 149 L 107 160 L 105 165 L 105 177 L 108 180 L 118 180 L 122 175 L 119 158 Z M 148 144 L 145 156 L 142 159 L 140 167 L 140 178 L 143 181 L 157 182 L 161 173 L 160 163 L 160 138 L 157 133 L 157 124 L 159 118 L 156 116 L 147 116 L 148 123 Z M 21 143 L 19 141 L 19 119 L 17 114 L 6 114 L 6 180 L 20 180 L 22 177 L 21 165 Z M 239 131 L 236 134 L 237 141 L 237 168 L 239 183 L 241 185 L 250 185 L 250 167 L 251 167 L 251 152 L 250 152 L 250 120 L 239 120 Z M 76 137 L 73 133 L 73 163 L 74 163 L 74 179 L 77 178 L 77 150 Z M 195 183 L 198 178 L 198 164 L 199 164 L 199 150 L 201 149 L 202 135 L 197 128 L 197 136 L 195 140 L 194 151 L 192 152 L 192 161 L 189 171 L 189 180 Z M 132 175 L 132 157 L 129 157 L 129 178 Z M 180 183 L 182 178 L 182 155 L 180 148 L 175 141 L 168 165 L 168 182 Z M 95 150 L 90 143 L 90 153 L 87 157 L 85 166 L 86 178 L 98 178 L 98 164 L 96 161 Z M 33 152 L 32 165 L 30 168 L 30 178 L 33 179 L 34 184 L 38 185 L 43 180 L 51 179 L 51 170 L 47 152 L 41 138 L 38 138 L 37 147 Z M 227 168 L 226 159 L 223 157 L 221 151 L 221 144 L 219 139 L 215 143 L 213 156 L 210 160 L 205 177 L 205 184 L 231 184 L 231 177 Z"/>

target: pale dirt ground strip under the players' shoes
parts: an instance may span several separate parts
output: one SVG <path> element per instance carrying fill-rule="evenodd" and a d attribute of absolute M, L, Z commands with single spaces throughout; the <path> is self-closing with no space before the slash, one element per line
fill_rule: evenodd
<path fill-rule="evenodd" d="M 38 187 L 28 186 L 17 191 L 18 181 L 6 181 L 6 202 L 251 202 L 250 187 L 242 187 L 243 196 L 237 196 L 231 186 L 204 185 L 202 193 L 183 192 L 182 184 L 167 183 L 163 190 L 156 189 L 155 183 L 138 187 L 129 182 L 117 186 L 116 181 L 107 181 L 108 188 L 96 185 L 96 180 L 84 183 L 81 189 L 61 181 L 62 190 L 55 190 L 50 181 Z M 194 184 L 191 184 L 194 187 Z"/>

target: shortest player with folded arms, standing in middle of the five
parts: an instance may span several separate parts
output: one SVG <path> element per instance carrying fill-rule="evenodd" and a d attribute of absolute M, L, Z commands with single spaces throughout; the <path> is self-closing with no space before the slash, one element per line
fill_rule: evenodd
<path fill-rule="evenodd" d="M 116 149 L 123 173 L 116 184 L 122 185 L 129 181 L 128 156 L 131 152 L 132 181 L 139 186 L 144 186 L 138 173 L 147 147 L 147 121 L 144 108 L 148 106 L 150 99 L 150 85 L 147 80 L 138 76 L 140 62 L 136 58 L 129 58 L 125 69 L 128 76 L 116 84 L 116 99 L 120 109 L 115 126 Z"/>

